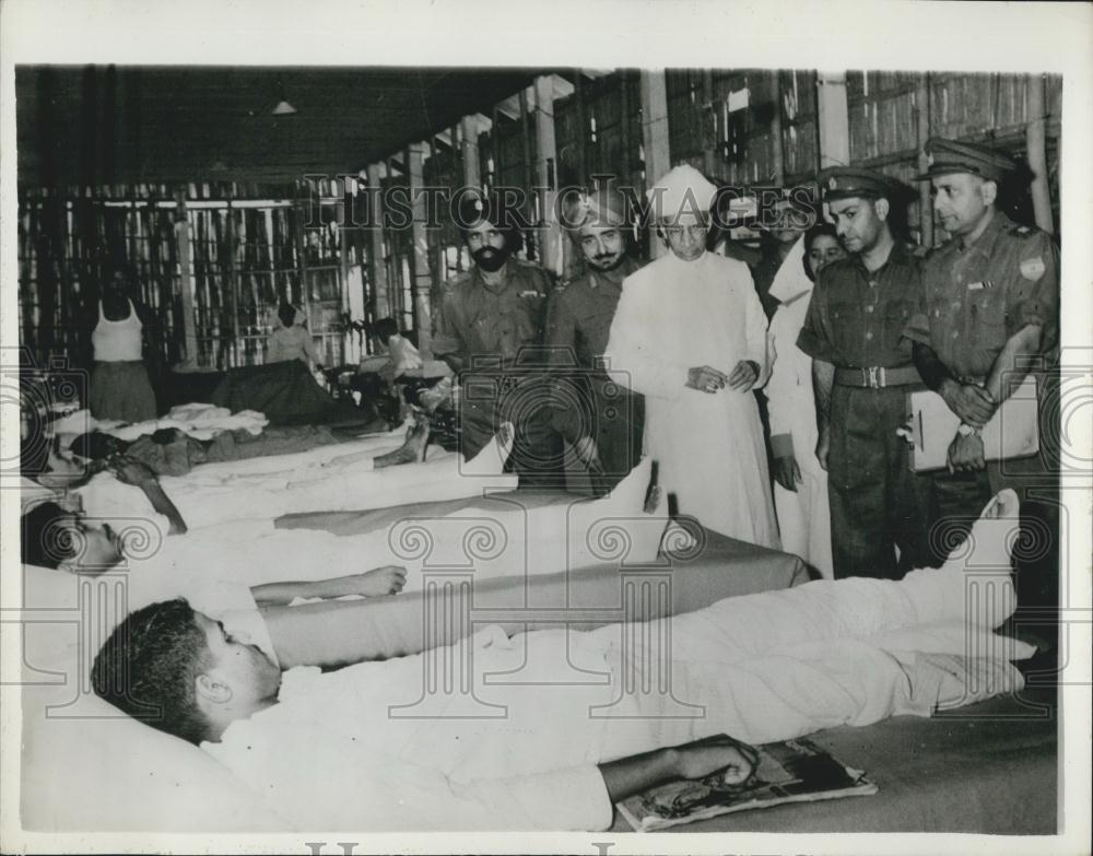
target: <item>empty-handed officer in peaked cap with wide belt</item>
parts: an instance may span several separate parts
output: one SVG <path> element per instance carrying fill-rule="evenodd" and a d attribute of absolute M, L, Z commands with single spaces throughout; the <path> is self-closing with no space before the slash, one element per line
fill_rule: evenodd
<path fill-rule="evenodd" d="M 820 179 L 849 256 L 820 271 L 797 345 L 812 357 L 834 573 L 897 578 L 930 558 L 930 480 L 896 435 L 907 392 L 922 388 L 902 338 L 921 308 L 919 260 L 889 223 L 898 183 L 854 167 Z"/>

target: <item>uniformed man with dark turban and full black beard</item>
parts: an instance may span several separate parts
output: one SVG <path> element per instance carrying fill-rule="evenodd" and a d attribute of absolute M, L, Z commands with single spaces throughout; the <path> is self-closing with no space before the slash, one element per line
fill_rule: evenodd
<path fill-rule="evenodd" d="M 561 483 L 561 438 L 552 429 L 542 335 L 550 280 L 513 258 L 517 209 L 496 196 L 467 198 L 458 225 L 474 267 L 444 292 L 433 353 L 460 378 L 460 450 L 477 455 L 501 425 L 515 429 L 509 467 L 521 485 Z"/>

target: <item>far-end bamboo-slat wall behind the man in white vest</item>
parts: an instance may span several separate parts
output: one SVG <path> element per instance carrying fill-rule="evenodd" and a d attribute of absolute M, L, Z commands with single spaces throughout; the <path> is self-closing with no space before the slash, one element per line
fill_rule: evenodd
<path fill-rule="evenodd" d="M 232 198 L 215 198 L 218 191 Z M 349 250 L 346 262 L 362 267 L 365 251 L 363 242 L 354 243 L 352 233 L 343 237 L 337 228 L 343 200 L 316 206 L 324 225 L 305 228 L 314 216 L 305 199 L 239 199 L 234 198 L 237 191 L 191 186 L 181 207 L 167 187 L 115 187 L 110 195 L 68 198 L 21 192 L 22 343 L 39 364 L 63 355 L 90 365 L 99 283 L 110 266 L 126 263 L 136 272 L 140 298 L 158 321 L 161 356 L 168 364 L 187 356 L 205 368 L 261 363 L 281 301 L 305 309 L 325 364 L 341 363 L 346 305 L 342 257 Z M 184 255 L 197 347 L 189 355 Z"/>

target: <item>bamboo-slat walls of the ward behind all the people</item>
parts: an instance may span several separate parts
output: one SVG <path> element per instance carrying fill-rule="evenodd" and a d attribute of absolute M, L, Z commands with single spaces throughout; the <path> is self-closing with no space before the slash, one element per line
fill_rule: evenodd
<path fill-rule="evenodd" d="M 572 94 L 553 104 L 556 186 L 589 186 L 593 176 L 610 175 L 621 186 L 643 192 L 656 176 L 644 172 L 637 73 L 574 71 L 568 78 Z M 666 72 L 666 89 L 672 163 L 691 163 L 710 178 L 738 187 L 795 185 L 815 172 L 820 155 L 815 72 L 673 69 Z M 1061 91 L 1061 79 L 1047 80 L 1048 180 L 1056 222 Z M 919 117 L 928 121 L 925 132 L 930 136 L 987 141 L 1022 157 L 1031 118 L 1025 93 L 1023 75 L 849 71 L 850 162 L 909 179 L 919 171 Z M 515 118 L 513 104 L 520 107 Z M 540 114 L 530 98 L 520 105 L 519 98 L 508 97 L 506 105 L 509 115 L 495 108 L 492 128 L 478 140 L 482 183 L 530 191 L 538 181 L 534 122 Z M 462 186 L 462 155 L 453 146 L 458 132 L 437 128 L 435 134 L 427 141 L 424 183 Z M 447 139 L 440 139 L 445 134 Z M 404 152 L 391 152 L 386 159 L 385 188 L 406 188 L 403 157 Z M 344 190 L 333 186 L 324 190 L 319 222 L 305 223 L 307 209 L 301 198 L 307 194 L 298 185 L 193 178 L 203 183 L 185 187 L 183 196 L 193 203 L 185 216 L 190 226 L 199 363 L 223 367 L 260 362 L 272 313 L 282 298 L 307 307 L 325 360 L 336 363 L 345 357 L 348 308 L 363 305 L 364 318 L 353 320 L 371 324 L 376 295 L 366 273 L 371 233 L 337 228 L 344 216 Z M 136 265 L 143 297 L 167 333 L 163 356 L 172 362 L 183 356 L 179 214 L 171 201 L 175 189 L 21 186 L 20 321 L 22 341 L 39 359 L 55 353 L 78 362 L 90 357 L 98 281 L 108 258 Z M 257 208 L 245 204 L 260 199 L 283 201 Z M 220 202 L 212 203 L 215 200 Z M 357 201 L 364 210 L 363 197 Z M 1011 213 L 1031 222 L 1026 194 L 1014 191 L 1007 204 Z M 913 239 L 921 238 L 918 206 L 913 198 L 907 211 Z M 469 265 L 448 212 L 437 213 L 438 227 L 426 230 L 424 236 L 434 302 L 444 282 Z M 537 212 L 529 208 L 527 213 L 531 218 Z M 536 230 L 526 234 L 526 258 L 539 258 L 538 234 Z M 935 241 L 944 237 L 940 228 L 933 235 Z M 571 253 L 568 243 L 563 244 Z M 411 230 L 385 230 L 383 247 L 392 314 L 413 329 Z M 639 251 L 644 255 L 647 246 Z M 364 291 L 363 300 L 360 294 L 350 298 L 350 281 Z M 367 348 L 359 345 L 356 353 Z"/>

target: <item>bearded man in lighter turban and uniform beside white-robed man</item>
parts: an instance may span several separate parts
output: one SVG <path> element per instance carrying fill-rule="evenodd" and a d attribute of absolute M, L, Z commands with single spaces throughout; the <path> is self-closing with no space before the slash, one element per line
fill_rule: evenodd
<path fill-rule="evenodd" d="M 609 492 L 642 457 L 645 400 L 603 371 L 622 281 L 640 267 L 630 255 L 628 208 L 618 190 L 566 198 L 562 225 L 580 249 L 585 272 L 551 295 L 546 325 L 552 362 L 563 367 L 555 378 L 554 425 L 588 466 L 597 494 Z"/>

